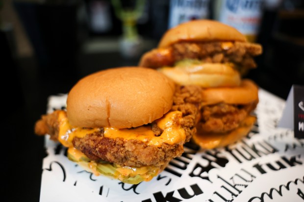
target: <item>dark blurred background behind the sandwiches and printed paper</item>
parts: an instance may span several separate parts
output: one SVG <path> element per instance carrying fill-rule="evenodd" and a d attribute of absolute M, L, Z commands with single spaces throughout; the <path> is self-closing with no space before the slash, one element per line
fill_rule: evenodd
<path fill-rule="evenodd" d="M 168 28 L 193 19 L 227 23 L 263 46 L 245 75 L 261 88 L 286 99 L 304 85 L 304 0 L 0 0 L 0 123 L 10 147 L 1 147 L 1 173 L 16 178 L 4 191 L 22 182 L 6 201 L 39 200 L 46 153 L 33 127 L 50 95 L 89 73 L 136 66 Z"/>

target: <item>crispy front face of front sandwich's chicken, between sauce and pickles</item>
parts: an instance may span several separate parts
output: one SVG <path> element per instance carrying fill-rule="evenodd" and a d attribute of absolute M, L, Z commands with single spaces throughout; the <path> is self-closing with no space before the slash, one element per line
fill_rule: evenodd
<path fill-rule="evenodd" d="M 75 137 L 73 145 L 92 160 L 106 160 L 121 166 L 163 165 L 183 153 L 180 144 L 147 145 L 136 139 L 107 138 L 101 134 Z"/>

